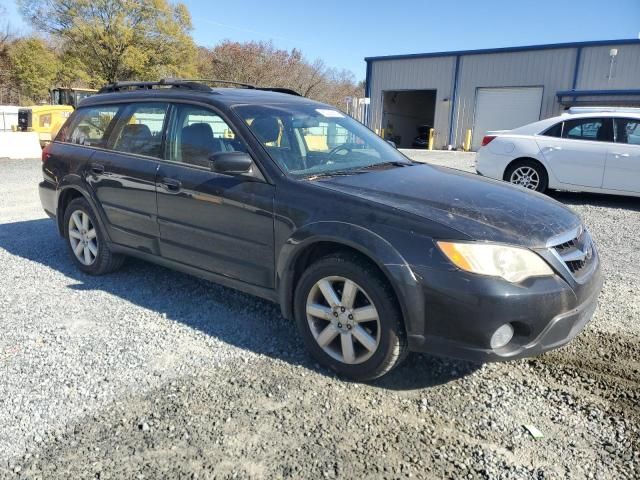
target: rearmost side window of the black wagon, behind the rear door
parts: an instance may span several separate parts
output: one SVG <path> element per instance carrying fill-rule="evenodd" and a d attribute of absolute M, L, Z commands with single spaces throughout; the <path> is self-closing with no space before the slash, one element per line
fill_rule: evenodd
<path fill-rule="evenodd" d="M 119 108 L 117 105 L 102 105 L 76 110 L 56 140 L 105 148 Z"/>

